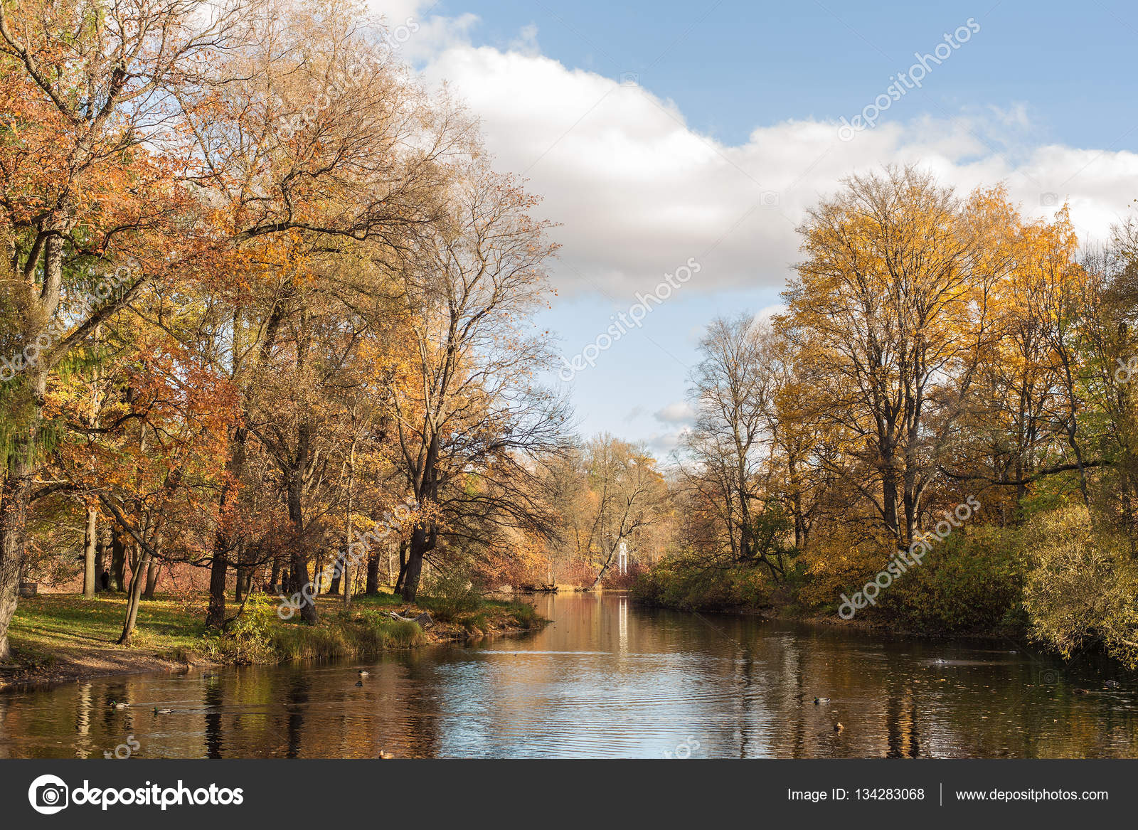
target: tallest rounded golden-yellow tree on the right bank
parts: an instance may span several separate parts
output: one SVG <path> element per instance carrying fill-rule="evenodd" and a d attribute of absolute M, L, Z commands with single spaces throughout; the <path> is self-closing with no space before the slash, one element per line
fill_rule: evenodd
<path fill-rule="evenodd" d="M 983 243 L 1001 211 L 998 190 L 965 203 L 915 167 L 889 169 L 847 179 L 800 229 L 781 330 L 832 379 L 827 411 L 850 436 L 841 475 L 902 547 L 993 338 L 1007 263 Z"/>

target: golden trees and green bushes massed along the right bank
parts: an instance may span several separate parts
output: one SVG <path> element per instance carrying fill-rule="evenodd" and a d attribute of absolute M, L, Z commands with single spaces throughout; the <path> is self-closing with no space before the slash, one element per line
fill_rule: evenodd
<path fill-rule="evenodd" d="M 893 167 L 799 232 L 784 311 L 701 343 L 677 556 L 641 594 L 1030 628 L 1133 665 L 1135 228 L 1081 246 L 1066 208 Z"/>

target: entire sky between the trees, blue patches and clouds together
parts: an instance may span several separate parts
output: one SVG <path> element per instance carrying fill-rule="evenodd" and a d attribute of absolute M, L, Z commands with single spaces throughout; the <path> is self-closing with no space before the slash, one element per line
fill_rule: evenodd
<path fill-rule="evenodd" d="M 535 326 L 583 367 L 547 378 L 579 430 L 658 457 L 691 424 L 703 328 L 777 311 L 794 229 L 842 178 L 920 163 L 962 195 L 1004 182 L 1029 216 L 1067 203 L 1088 241 L 1138 197 L 1130 2 L 369 5 L 558 223 Z M 667 297 L 630 312 L 649 294 Z M 638 324 L 609 329 L 621 313 Z"/>

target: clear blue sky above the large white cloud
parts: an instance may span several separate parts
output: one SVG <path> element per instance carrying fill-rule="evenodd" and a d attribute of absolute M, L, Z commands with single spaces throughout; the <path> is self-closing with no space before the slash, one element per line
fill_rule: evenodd
<path fill-rule="evenodd" d="M 1023 102 L 1040 117 L 1036 139 L 1105 147 L 1138 124 L 1129 69 L 1132 2 L 444 2 L 483 23 L 479 44 L 506 47 L 535 25 L 542 51 L 610 77 L 635 73 L 675 100 L 692 125 L 741 141 L 758 124 L 836 120 L 966 18 L 981 25 L 967 60 L 907 102 L 949 112 Z M 1138 133 L 1124 139 L 1133 148 Z"/>

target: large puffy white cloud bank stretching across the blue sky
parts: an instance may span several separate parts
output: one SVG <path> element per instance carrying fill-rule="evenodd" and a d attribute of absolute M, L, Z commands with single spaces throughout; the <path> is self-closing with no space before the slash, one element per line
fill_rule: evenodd
<path fill-rule="evenodd" d="M 849 142 L 836 123 L 784 121 L 731 146 L 638 85 L 541 55 L 533 26 L 502 51 L 472 46 L 475 24 L 421 20 L 409 55 L 467 100 L 497 166 L 544 195 L 541 215 L 561 223 L 553 273 L 563 294 L 628 297 L 693 256 L 703 268 L 685 291 L 782 286 L 805 211 L 841 178 L 890 162 L 921 162 L 963 191 L 1006 181 L 1029 215 L 1054 212 L 1041 196 L 1057 194 L 1097 239 L 1138 195 L 1138 155 L 1022 143 L 1030 114 L 1019 102 L 891 122 Z"/>

